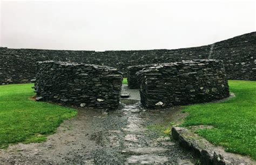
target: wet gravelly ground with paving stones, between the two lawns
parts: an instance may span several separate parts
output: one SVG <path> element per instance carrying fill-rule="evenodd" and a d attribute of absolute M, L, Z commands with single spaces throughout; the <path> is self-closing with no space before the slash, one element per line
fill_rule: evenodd
<path fill-rule="evenodd" d="M 0 163 L 194 163 L 161 130 L 181 122 L 186 115 L 181 108 L 145 110 L 138 97 L 131 98 L 122 99 L 125 104 L 116 111 L 78 109 L 77 117 L 64 121 L 47 141 L 0 150 Z"/>

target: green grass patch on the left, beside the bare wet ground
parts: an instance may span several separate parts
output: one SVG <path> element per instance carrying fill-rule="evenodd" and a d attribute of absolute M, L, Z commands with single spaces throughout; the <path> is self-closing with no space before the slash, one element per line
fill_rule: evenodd
<path fill-rule="evenodd" d="M 77 111 L 35 102 L 33 84 L 0 85 L 0 148 L 17 142 L 41 142 Z"/>

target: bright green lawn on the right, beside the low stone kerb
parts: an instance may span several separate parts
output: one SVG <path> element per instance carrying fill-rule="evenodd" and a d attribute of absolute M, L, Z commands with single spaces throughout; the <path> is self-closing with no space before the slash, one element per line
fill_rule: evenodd
<path fill-rule="evenodd" d="M 256 160 L 256 81 L 229 81 L 234 98 L 223 103 L 185 106 L 190 112 L 183 126 L 212 125 L 197 133 L 228 152 Z"/>

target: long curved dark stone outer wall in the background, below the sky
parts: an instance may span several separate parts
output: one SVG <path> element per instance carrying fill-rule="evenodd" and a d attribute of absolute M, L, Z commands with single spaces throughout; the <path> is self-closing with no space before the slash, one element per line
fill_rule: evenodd
<path fill-rule="evenodd" d="M 256 80 L 256 32 L 215 44 L 148 51 L 60 51 L 0 47 L 0 84 L 26 83 L 35 78 L 37 61 L 71 61 L 118 68 L 126 77 L 127 67 L 193 59 L 223 60 L 232 80 Z"/>

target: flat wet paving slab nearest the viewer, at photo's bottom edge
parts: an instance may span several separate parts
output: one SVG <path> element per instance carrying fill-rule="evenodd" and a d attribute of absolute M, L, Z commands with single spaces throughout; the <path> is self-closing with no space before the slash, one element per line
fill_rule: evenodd
<path fill-rule="evenodd" d="M 133 155 L 128 157 L 127 164 L 163 164 L 168 161 L 166 156 L 157 155 Z"/>

